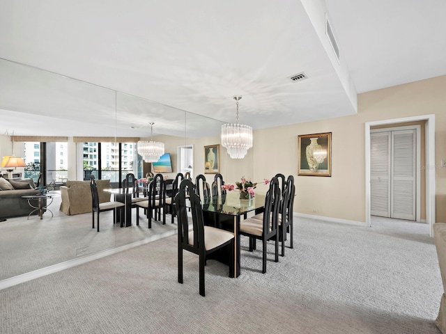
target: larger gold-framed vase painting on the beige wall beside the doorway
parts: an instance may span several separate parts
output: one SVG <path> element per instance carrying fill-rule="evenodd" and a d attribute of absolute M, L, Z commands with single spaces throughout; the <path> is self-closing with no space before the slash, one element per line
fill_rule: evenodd
<path fill-rule="evenodd" d="M 298 175 L 332 176 L 332 133 L 298 136 Z"/>

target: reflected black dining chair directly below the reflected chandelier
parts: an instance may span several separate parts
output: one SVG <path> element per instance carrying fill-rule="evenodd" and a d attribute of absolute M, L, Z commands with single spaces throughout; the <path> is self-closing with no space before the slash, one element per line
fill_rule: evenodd
<path fill-rule="evenodd" d="M 147 211 L 148 228 L 152 227 L 152 218 L 161 220 L 162 209 L 162 224 L 166 223 L 166 209 L 164 203 L 166 194 L 164 192 L 164 177 L 158 173 L 153 177 L 153 181 L 148 184 L 148 199 L 137 202 L 137 225 L 139 225 L 139 208 L 142 207 Z"/>

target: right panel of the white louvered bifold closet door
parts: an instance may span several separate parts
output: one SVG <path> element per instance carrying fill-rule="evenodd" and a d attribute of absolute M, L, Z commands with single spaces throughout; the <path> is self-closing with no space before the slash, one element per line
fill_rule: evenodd
<path fill-rule="evenodd" d="M 392 218 L 415 221 L 416 132 L 392 131 Z"/>

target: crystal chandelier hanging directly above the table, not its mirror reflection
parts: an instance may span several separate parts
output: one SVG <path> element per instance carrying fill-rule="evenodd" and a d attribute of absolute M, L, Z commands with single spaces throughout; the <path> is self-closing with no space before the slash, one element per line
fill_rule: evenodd
<path fill-rule="evenodd" d="M 249 148 L 252 148 L 252 127 L 238 124 L 238 100 L 242 97 L 235 95 L 237 101 L 237 123 L 222 125 L 222 145 L 232 159 L 243 159 Z"/>

